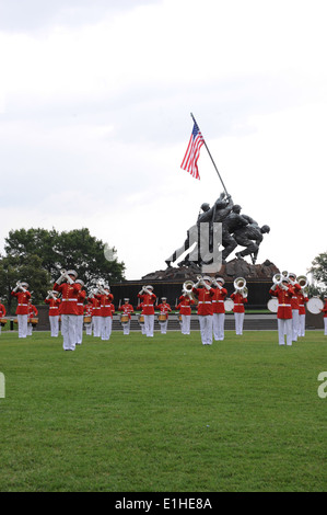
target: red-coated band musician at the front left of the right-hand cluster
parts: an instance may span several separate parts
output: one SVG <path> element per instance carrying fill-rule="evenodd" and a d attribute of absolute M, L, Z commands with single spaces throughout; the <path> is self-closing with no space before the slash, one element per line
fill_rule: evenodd
<path fill-rule="evenodd" d="M 294 295 L 288 277 L 283 276 L 279 284 L 273 284 L 269 290 L 272 297 L 278 298 L 278 341 L 279 345 L 284 345 L 284 335 L 287 335 L 287 345 L 292 345 L 292 305 L 291 298 Z"/>

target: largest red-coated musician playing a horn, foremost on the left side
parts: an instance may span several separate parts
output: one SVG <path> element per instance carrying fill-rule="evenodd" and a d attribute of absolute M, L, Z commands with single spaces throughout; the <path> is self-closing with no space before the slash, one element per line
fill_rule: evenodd
<path fill-rule="evenodd" d="M 63 351 L 74 351 L 77 344 L 78 297 L 81 285 L 75 283 L 78 274 L 74 270 L 61 271 L 60 277 L 54 285 L 54 290 L 61 294 L 61 334 Z"/>

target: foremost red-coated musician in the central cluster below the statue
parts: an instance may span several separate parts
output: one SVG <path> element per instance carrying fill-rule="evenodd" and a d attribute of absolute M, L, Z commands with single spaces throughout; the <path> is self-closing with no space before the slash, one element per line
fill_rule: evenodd
<path fill-rule="evenodd" d="M 201 286 L 201 288 L 199 288 Z M 202 345 L 212 344 L 212 298 L 214 289 L 211 288 L 211 278 L 208 275 L 200 277 L 192 287 L 192 293 L 198 298 L 198 317 Z"/>

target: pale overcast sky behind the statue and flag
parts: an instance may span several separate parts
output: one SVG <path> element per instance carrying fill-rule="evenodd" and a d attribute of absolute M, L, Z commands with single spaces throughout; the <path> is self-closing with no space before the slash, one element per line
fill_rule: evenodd
<path fill-rule="evenodd" d="M 0 251 L 87 227 L 126 277 L 165 268 L 222 191 L 268 224 L 258 262 L 327 251 L 325 0 L 0 0 Z M 237 250 L 241 250 L 240 248 Z M 234 254 L 231 255 L 233 258 Z"/>

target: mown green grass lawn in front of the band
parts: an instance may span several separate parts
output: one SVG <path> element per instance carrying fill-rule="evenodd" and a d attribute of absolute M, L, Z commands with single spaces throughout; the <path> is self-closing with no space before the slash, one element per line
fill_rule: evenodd
<path fill-rule="evenodd" d="M 326 491 L 327 336 L 0 336 L 0 491 Z"/>

